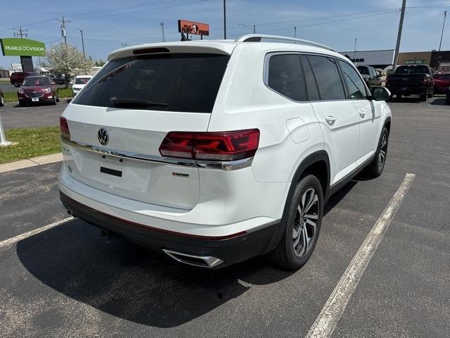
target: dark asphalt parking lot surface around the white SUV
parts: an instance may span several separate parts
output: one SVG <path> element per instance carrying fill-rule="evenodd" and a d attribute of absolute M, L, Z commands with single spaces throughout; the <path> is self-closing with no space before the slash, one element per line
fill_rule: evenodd
<path fill-rule="evenodd" d="M 390 106 L 385 172 L 359 175 L 330 199 L 316 249 L 297 272 L 264 257 L 191 268 L 105 241 L 81 220 L 17 240 L 68 217 L 60 163 L 1 173 L 2 337 L 306 337 L 407 173 L 416 177 L 332 337 L 449 337 L 450 106 L 442 97 Z M 37 119 L 56 125 L 57 108 L 39 107 Z M 15 127 L 32 109 L 3 109 L 4 123 Z"/>

